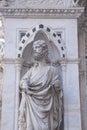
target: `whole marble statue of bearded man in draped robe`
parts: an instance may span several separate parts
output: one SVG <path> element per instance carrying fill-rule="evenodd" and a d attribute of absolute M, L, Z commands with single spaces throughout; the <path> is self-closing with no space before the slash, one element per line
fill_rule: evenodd
<path fill-rule="evenodd" d="M 60 130 L 62 88 L 57 68 L 49 63 L 45 41 L 33 43 L 35 64 L 22 77 L 19 130 Z"/>

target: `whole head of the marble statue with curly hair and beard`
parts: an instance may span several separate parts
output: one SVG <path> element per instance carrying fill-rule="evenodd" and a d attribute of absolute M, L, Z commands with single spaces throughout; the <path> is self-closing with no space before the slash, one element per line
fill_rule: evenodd
<path fill-rule="evenodd" d="M 33 43 L 33 55 L 35 60 L 47 59 L 48 57 L 48 46 L 44 40 L 38 40 Z"/>

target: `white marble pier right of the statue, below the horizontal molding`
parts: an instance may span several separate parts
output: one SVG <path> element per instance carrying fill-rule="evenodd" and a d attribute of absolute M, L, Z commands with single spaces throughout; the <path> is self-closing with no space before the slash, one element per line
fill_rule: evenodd
<path fill-rule="evenodd" d="M 78 59 L 68 60 L 66 69 L 65 104 L 67 105 L 65 130 L 82 130 Z"/>

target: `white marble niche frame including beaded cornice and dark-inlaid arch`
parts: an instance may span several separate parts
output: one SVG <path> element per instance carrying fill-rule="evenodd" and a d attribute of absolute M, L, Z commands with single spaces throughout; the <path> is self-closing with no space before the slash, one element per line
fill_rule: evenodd
<path fill-rule="evenodd" d="M 75 3 L 74 3 L 75 4 Z M 9 2 L 8 2 L 9 5 Z M 45 8 L 13 8 L 14 1 L 9 7 L 1 8 L 5 17 L 5 54 L 4 83 L 2 93 L 2 122 L 1 130 L 18 129 L 18 107 L 19 107 L 19 80 L 22 63 L 22 54 L 32 40 L 35 33 L 45 32 L 49 41 L 56 43 L 57 36 L 61 34 L 61 46 L 58 46 L 60 53 L 60 64 L 62 67 L 63 90 L 64 90 L 64 130 L 82 130 L 79 92 L 79 57 L 78 57 L 78 24 L 77 18 L 83 12 L 82 7 L 56 9 Z M 47 7 L 48 8 L 48 7 Z M 43 25 L 44 28 L 40 28 Z M 48 32 L 47 28 L 51 31 Z M 36 32 L 32 30 L 36 29 Z M 20 41 L 21 32 L 28 33 L 31 38 L 23 38 Z M 24 45 L 22 42 L 24 41 Z M 20 49 L 20 47 L 22 47 Z M 64 48 L 64 50 L 61 49 Z M 52 52 L 52 51 L 51 51 Z M 64 57 L 63 57 L 64 54 Z M 27 54 L 25 54 L 27 55 Z M 57 57 L 57 56 L 56 56 Z M 10 80 L 11 79 L 11 80 Z M 7 93 L 7 94 L 6 94 Z"/>

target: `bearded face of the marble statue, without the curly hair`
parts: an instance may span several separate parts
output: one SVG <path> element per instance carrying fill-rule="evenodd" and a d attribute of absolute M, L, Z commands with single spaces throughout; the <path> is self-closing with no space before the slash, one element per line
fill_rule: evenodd
<path fill-rule="evenodd" d="M 33 46 L 34 59 L 40 61 L 43 58 L 43 47 L 39 44 Z"/>

